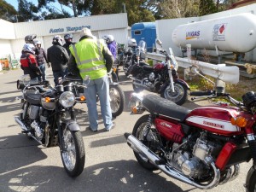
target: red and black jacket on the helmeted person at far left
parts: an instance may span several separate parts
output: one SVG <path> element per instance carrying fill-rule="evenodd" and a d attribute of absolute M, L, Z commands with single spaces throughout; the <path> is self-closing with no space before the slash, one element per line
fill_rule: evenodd
<path fill-rule="evenodd" d="M 20 67 L 24 71 L 24 74 L 29 74 L 31 79 L 37 78 L 41 75 L 41 71 L 37 64 L 35 55 L 29 52 L 22 52 L 20 56 Z"/>

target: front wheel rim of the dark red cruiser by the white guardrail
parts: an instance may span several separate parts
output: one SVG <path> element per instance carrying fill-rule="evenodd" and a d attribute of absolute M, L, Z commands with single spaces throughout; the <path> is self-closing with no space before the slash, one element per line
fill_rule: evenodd
<path fill-rule="evenodd" d="M 180 84 L 174 84 L 174 92 L 172 92 L 171 85 L 168 85 L 166 87 L 164 96 L 167 100 L 170 100 L 172 102 L 178 102 L 183 98 L 184 94 L 185 90 L 183 89 L 183 86 Z"/>

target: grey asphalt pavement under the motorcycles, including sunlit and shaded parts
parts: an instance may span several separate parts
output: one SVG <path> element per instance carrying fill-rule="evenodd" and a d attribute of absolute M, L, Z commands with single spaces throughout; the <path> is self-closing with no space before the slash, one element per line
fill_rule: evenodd
<path fill-rule="evenodd" d="M 200 192 L 206 191 L 166 176 L 160 171 L 148 172 L 139 166 L 128 147 L 124 133 L 133 129 L 141 115 L 131 115 L 127 104 L 132 92 L 131 80 L 120 72 L 121 88 L 125 92 L 125 110 L 114 119 L 115 128 L 104 131 L 102 119 L 99 131 L 88 129 L 86 104 L 77 104 L 77 119 L 84 138 L 85 166 L 79 177 L 67 176 L 58 147 L 44 148 L 21 134 L 15 115 L 20 113 L 21 95 L 16 81 L 23 71 L 0 71 L 0 192 L 15 191 L 61 191 L 61 192 Z M 53 83 L 51 68 L 47 68 L 47 79 Z M 183 106 L 197 108 L 210 104 L 186 102 Z M 100 110 L 99 110 L 100 113 Z M 247 170 L 252 164 L 241 164 L 241 173 L 236 180 L 209 189 L 209 192 L 244 192 Z"/>

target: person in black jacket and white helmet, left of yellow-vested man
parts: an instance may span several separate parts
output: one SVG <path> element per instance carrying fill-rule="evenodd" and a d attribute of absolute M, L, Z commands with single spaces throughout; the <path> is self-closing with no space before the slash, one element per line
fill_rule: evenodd
<path fill-rule="evenodd" d="M 59 84 L 59 79 L 63 79 L 67 73 L 67 61 L 69 56 L 67 50 L 62 47 L 64 40 L 61 36 L 56 35 L 53 38 L 52 44 L 53 45 L 47 49 L 47 61 L 51 63 L 56 86 Z"/>

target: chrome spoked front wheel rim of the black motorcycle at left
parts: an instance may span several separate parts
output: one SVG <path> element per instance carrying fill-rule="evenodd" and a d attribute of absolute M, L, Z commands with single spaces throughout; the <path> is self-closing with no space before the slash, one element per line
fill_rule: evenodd
<path fill-rule="evenodd" d="M 62 151 L 62 158 L 65 166 L 69 171 L 73 171 L 76 164 L 76 148 L 73 143 L 73 136 L 69 130 L 63 132 L 64 149 Z"/>

